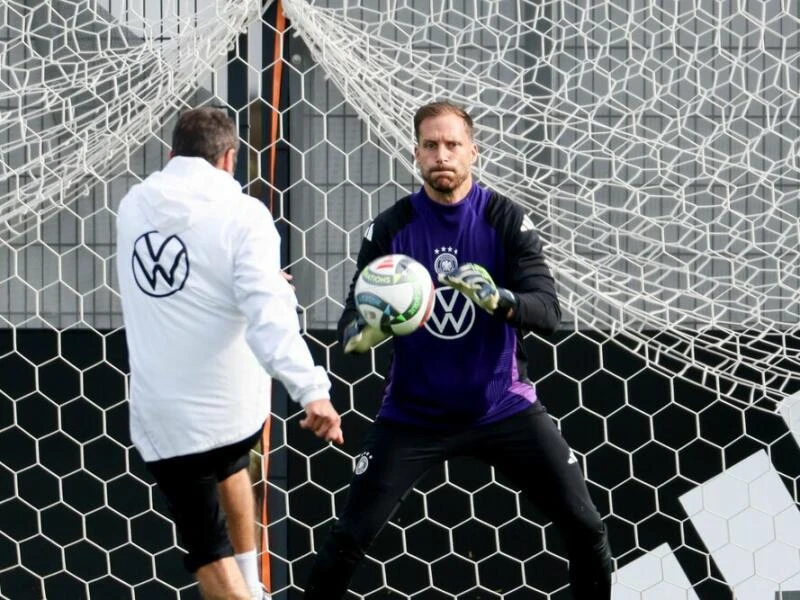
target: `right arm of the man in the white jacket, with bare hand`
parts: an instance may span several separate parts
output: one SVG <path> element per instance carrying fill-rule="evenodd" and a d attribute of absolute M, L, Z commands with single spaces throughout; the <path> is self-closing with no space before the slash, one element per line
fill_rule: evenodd
<path fill-rule="evenodd" d="M 300 425 L 341 444 L 341 418 L 330 402 L 330 380 L 314 364 L 300 333 L 297 298 L 280 273 L 280 239 L 272 216 L 255 202 L 244 213 L 233 240 L 233 292 L 247 320 L 247 343 L 267 373 L 305 409 Z"/>

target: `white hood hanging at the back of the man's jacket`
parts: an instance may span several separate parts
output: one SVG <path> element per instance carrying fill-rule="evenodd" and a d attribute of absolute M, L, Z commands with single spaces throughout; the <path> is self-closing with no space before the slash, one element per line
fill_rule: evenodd
<path fill-rule="evenodd" d="M 211 210 L 215 202 L 239 194 L 239 183 L 203 158 L 174 156 L 161 171 L 145 179 L 138 202 L 147 220 L 161 233 L 180 233 Z"/>

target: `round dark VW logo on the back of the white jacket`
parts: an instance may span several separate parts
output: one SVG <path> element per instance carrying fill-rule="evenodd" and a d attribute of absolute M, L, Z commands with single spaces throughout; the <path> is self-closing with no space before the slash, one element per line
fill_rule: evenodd
<path fill-rule="evenodd" d="M 189 254 L 177 235 L 148 231 L 133 243 L 131 268 L 140 290 L 163 298 L 183 289 L 189 277 Z"/>

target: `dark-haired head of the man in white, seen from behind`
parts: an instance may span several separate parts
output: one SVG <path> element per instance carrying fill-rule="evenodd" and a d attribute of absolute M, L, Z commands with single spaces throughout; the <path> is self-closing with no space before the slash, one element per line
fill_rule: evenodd
<path fill-rule="evenodd" d="M 224 110 L 201 106 L 178 117 L 172 131 L 173 156 L 197 156 L 213 165 L 231 148 L 239 150 L 239 134 Z"/>

